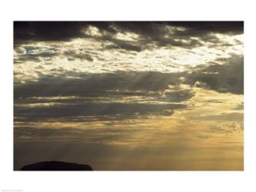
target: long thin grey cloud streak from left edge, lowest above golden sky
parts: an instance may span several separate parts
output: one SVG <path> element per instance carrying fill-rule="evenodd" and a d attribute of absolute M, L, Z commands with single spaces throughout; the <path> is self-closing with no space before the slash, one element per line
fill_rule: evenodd
<path fill-rule="evenodd" d="M 98 117 L 107 116 L 111 118 L 134 118 L 137 115 L 171 115 L 172 110 L 185 108 L 185 104 L 121 104 L 113 103 L 90 103 L 54 105 L 44 108 L 15 107 L 15 118 L 24 121 L 38 121 L 56 118 L 72 117 Z M 81 121 L 84 121 L 81 119 Z"/>

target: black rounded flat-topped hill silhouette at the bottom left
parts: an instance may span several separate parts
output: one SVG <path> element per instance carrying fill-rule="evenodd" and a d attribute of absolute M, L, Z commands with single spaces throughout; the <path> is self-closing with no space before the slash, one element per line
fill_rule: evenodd
<path fill-rule="evenodd" d="M 42 161 L 35 164 L 28 164 L 21 170 L 92 170 L 87 164 L 74 164 L 62 161 Z"/>

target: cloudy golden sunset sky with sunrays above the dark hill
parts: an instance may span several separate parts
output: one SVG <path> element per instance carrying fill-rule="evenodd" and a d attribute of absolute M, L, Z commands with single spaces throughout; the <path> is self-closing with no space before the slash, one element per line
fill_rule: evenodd
<path fill-rule="evenodd" d="M 14 170 L 243 170 L 243 22 L 14 22 Z"/>

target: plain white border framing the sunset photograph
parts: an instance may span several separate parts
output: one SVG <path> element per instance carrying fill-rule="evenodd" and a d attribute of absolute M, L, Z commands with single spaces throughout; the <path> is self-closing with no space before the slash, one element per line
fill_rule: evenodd
<path fill-rule="evenodd" d="M 1 1 L 0 191 L 256 191 L 254 1 Z M 244 171 L 12 171 L 12 25 L 14 20 L 244 21 Z"/>

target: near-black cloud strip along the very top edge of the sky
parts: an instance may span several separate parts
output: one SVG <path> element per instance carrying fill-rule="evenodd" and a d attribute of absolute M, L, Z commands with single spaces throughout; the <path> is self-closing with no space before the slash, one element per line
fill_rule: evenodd
<path fill-rule="evenodd" d="M 115 34 L 117 31 L 130 31 L 148 37 L 159 37 L 165 26 L 188 28 L 183 35 L 209 32 L 243 33 L 244 22 L 14 22 L 15 40 L 65 41 L 79 38 L 82 29 L 89 25 L 100 31 Z"/>

